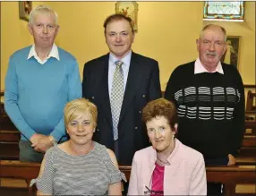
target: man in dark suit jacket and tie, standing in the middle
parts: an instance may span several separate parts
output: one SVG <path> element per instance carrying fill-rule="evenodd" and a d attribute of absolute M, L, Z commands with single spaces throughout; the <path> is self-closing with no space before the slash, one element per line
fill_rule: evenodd
<path fill-rule="evenodd" d="M 104 28 L 110 52 L 84 65 L 82 94 L 98 107 L 94 141 L 114 150 L 120 165 L 132 165 L 135 151 L 149 146 L 141 110 L 150 100 L 161 97 L 158 62 L 132 52 L 134 31 L 130 18 L 111 15 L 104 22 Z M 122 62 L 119 71 L 116 61 Z M 115 84 L 115 74 L 122 74 L 123 81 Z M 114 88 L 120 83 L 123 95 L 116 101 Z M 115 123 L 114 105 L 118 102 Z"/>

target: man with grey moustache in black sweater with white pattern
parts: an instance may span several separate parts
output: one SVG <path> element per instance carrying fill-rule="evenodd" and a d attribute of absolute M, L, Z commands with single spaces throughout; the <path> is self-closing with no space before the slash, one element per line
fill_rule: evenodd
<path fill-rule="evenodd" d="M 175 68 L 165 97 L 178 110 L 178 139 L 199 150 L 207 166 L 233 166 L 245 130 L 244 91 L 235 66 L 220 63 L 226 30 L 205 26 L 197 49 L 196 61 Z M 212 194 L 221 194 L 221 184 L 208 184 L 208 195 Z"/>

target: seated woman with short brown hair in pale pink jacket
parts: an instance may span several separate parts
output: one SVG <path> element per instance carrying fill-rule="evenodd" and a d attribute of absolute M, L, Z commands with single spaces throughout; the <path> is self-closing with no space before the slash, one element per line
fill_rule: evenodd
<path fill-rule="evenodd" d="M 128 195 L 206 195 L 201 153 L 175 139 L 175 105 L 164 98 L 151 101 L 142 119 L 152 146 L 133 157 Z"/>

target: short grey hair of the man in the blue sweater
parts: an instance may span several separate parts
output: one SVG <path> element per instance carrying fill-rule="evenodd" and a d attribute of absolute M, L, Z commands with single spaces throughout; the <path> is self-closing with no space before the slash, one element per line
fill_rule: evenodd
<path fill-rule="evenodd" d="M 46 4 L 39 4 L 30 12 L 29 17 L 29 24 L 32 24 L 35 18 L 35 15 L 38 13 L 46 13 L 46 14 L 53 14 L 55 17 L 55 25 L 58 25 L 58 15 L 57 13 L 48 5 Z"/>

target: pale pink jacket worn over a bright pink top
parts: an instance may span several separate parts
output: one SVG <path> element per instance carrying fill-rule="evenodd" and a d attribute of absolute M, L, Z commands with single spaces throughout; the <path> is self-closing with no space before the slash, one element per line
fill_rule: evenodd
<path fill-rule="evenodd" d="M 152 147 L 137 151 L 132 160 L 128 195 L 147 195 L 145 186 L 151 189 L 151 176 L 157 160 Z M 165 195 L 206 195 L 207 181 L 204 159 L 200 152 L 175 140 L 175 149 L 165 167 Z"/>

